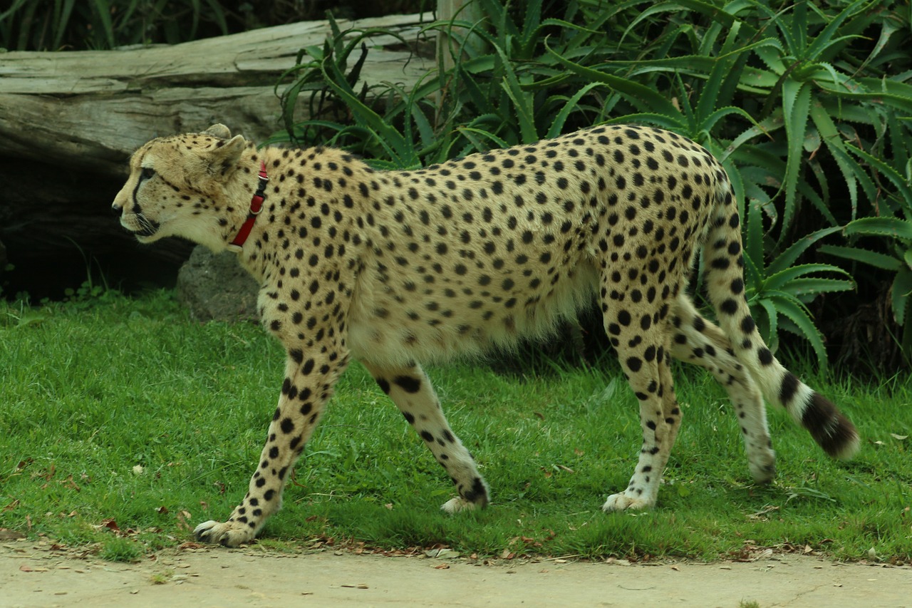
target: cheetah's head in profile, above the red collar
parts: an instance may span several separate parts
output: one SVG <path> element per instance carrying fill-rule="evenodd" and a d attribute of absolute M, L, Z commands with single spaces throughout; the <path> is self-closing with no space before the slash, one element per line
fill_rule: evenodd
<path fill-rule="evenodd" d="M 130 158 L 130 177 L 114 198 L 120 225 L 140 243 L 181 236 L 224 249 L 250 201 L 250 173 L 237 169 L 254 152 L 222 124 L 146 143 Z"/>

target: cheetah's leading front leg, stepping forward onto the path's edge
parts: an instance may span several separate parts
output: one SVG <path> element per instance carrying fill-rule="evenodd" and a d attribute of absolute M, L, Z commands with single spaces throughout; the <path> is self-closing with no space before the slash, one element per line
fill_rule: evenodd
<path fill-rule="evenodd" d="M 254 540 L 266 519 L 282 507 L 288 474 L 313 434 L 346 362 L 347 356 L 340 357 L 337 351 L 331 359 L 324 353 L 311 358 L 302 351 L 289 351 L 278 407 L 247 494 L 226 521 L 197 526 L 193 530 L 197 540 L 237 547 Z"/>

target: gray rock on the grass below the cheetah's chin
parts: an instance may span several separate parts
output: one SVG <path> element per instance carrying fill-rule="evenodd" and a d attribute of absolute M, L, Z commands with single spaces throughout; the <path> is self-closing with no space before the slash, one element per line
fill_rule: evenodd
<path fill-rule="evenodd" d="M 258 320 L 259 286 L 231 252 L 194 247 L 177 276 L 177 298 L 196 320 Z"/>

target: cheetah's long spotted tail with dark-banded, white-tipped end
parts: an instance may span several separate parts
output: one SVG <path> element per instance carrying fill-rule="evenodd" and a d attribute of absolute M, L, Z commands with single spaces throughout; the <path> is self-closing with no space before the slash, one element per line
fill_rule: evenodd
<path fill-rule="evenodd" d="M 744 295 L 741 222 L 727 179 L 720 183 L 712 217 L 703 252 L 704 276 L 710 302 L 735 355 L 766 400 L 792 414 L 828 455 L 855 455 L 859 447 L 855 425 L 835 404 L 785 369 L 757 331 Z"/>

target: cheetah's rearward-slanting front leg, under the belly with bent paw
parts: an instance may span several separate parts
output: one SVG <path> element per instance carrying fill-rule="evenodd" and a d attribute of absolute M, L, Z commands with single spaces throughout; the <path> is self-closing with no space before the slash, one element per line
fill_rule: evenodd
<path fill-rule="evenodd" d="M 430 379 L 420 365 L 394 367 L 364 362 L 364 366 L 399 407 L 456 486 L 459 496 L 451 498 L 441 508 L 455 513 L 487 505 L 488 486 L 469 450 L 452 432 Z"/>

